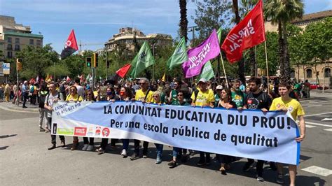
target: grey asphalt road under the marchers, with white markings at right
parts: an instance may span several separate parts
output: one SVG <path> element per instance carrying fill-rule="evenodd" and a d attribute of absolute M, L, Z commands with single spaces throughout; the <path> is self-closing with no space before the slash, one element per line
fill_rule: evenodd
<path fill-rule="evenodd" d="M 307 136 L 301 145 L 297 185 L 332 185 L 332 121 L 328 120 L 332 118 L 332 95 L 317 95 L 301 103 L 308 116 L 305 117 Z M 264 166 L 263 183 L 256 180 L 254 169 L 242 172 L 246 159 L 233 163 L 227 176 L 217 171 L 216 162 L 196 166 L 199 155 L 170 169 L 167 162 L 172 151 L 164 147 L 162 164 L 155 164 L 152 143 L 149 157 L 135 161 L 120 156 L 121 143 L 117 143 L 115 150 L 108 147 L 108 152 L 98 155 L 97 152 L 71 151 L 72 137 L 67 137 L 67 148 L 47 150 L 50 134 L 39 132 L 38 121 L 38 113 L 0 108 L 1 185 L 277 185 L 276 172 L 268 164 Z M 60 145 L 59 138 L 57 142 Z M 95 146 L 99 142 L 97 139 Z M 79 148 L 82 146 L 80 138 Z M 132 141 L 130 148 L 131 154 Z M 285 178 L 288 180 L 288 175 Z"/>

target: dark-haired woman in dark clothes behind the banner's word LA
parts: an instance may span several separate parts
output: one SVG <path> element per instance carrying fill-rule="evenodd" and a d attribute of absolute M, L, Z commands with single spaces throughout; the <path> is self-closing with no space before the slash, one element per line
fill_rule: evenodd
<path fill-rule="evenodd" d="M 120 100 L 120 98 L 116 95 L 114 88 L 107 87 L 106 97 L 102 98 L 102 101 L 114 102 L 114 101 L 118 101 L 118 100 Z M 114 138 L 111 139 L 111 146 L 113 148 L 116 147 L 117 141 L 118 141 L 118 139 L 114 139 Z M 96 150 L 96 152 L 104 153 L 108 142 L 109 142 L 109 138 L 102 138 L 102 143 L 100 144 L 100 147 Z"/>

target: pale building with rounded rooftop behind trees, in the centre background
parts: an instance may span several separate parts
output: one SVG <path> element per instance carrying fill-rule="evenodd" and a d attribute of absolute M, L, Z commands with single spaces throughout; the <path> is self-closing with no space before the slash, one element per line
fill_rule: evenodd
<path fill-rule="evenodd" d="M 141 45 L 144 41 L 151 41 L 151 43 L 155 43 L 155 45 L 172 45 L 172 36 L 167 34 L 145 35 L 139 29 L 125 27 L 120 28 L 119 33 L 114 34 L 113 37 L 105 43 L 105 49 L 107 51 L 113 51 L 122 45 L 126 50 L 132 52 L 135 49 L 135 42 Z"/>

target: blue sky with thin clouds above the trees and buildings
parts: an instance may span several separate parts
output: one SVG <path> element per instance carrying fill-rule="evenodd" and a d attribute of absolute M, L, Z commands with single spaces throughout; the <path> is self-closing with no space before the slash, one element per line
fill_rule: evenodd
<path fill-rule="evenodd" d="M 201 0 L 202 1 L 202 0 Z M 188 27 L 196 5 L 187 1 Z M 332 0 L 303 0 L 305 14 L 332 9 Z M 136 27 L 144 34 L 170 34 L 177 38 L 179 0 L 0 0 L 0 15 L 30 26 L 32 34 L 43 34 L 43 44 L 61 53 L 71 29 L 82 50 L 96 50 L 121 27 Z M 86 45 L 84 45 L 86 44 Z"/>

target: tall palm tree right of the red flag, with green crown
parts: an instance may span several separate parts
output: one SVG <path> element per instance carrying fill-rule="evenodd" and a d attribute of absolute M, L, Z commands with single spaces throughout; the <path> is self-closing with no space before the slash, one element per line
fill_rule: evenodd
<path fill-rule="evenodd" d="M 264 15 L 272 24 L 278 25 L 280 79 L 289 82 L 291 65 L 286 35 L 286 24 L 296 18 L 302 18 L 304 13 L 302 0 L 265 0 Z"/>

